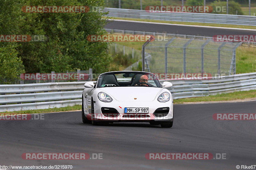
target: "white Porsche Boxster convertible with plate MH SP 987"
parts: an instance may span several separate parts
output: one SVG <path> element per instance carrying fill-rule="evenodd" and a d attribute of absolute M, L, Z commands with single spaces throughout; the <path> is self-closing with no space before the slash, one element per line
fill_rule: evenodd
<path fill-rule="evenodd" d="M 155 74 L 142 71 L 112 71 L 100 74 L 96 84 L 87 82 L 82 94 L 82 120 L 102 122 L 149 122 L 171 128 L 173 98 Z"/>

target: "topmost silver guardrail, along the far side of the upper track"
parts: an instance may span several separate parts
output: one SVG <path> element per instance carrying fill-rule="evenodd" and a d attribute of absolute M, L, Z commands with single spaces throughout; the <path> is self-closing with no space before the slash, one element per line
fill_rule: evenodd
<path fill-rule="evenodd" d="M 108 14 L 106 15 L 108 17 L 256 26 L 256 17 L 248 15 L 228 15 L 192 12 L 153 13 L 146 12 L 145 10 L 131 10 L 119 8 L 104 8 L 103 11 L 108 11 Z"/>

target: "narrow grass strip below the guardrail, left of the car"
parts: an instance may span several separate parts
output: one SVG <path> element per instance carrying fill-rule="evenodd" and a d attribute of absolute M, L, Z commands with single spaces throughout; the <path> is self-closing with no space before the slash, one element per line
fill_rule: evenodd
<path fill-rule="evenodd" d="M 51 112 L 66 112 L 72 110 L 81 110 L 82 105 L 68 106 L 68 107 L 54 107 L 48 109 L 38 109 L 38 110 L 22 110 L 13 112 L 0 112 L 0 113 L 15 113 L 15 114 L 36 114 L 36 113 L 51 113 Z"/>

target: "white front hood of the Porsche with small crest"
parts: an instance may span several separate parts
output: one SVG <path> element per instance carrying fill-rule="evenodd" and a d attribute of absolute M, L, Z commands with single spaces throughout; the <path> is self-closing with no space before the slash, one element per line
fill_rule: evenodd
<path fill-rule="evenodd" d="M 117 101 L 153 101 L 162 88 L 158 87 L 103 87 Z M 136 100 L 135 100 L 136 99 Z"/>

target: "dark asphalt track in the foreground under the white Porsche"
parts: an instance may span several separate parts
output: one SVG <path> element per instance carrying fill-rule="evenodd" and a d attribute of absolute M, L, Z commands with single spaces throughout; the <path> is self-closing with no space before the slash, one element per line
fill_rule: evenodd
<path fill-rule="evenodd" d="M 172 128 L 149 123 L 83 124 L 81 112 L 45 120 L 0 121 L 0 165 L 73 169 L 236 169 L 256 163 L 256 121 L 217 121 L 214 113 L 256 113 L 256 101 L 174 105 Z M 23 160 L 22 153 L 103 153 L 98 160 Z M 147 160 L 146 153 L 226 153 L 226 160 Z"/>

